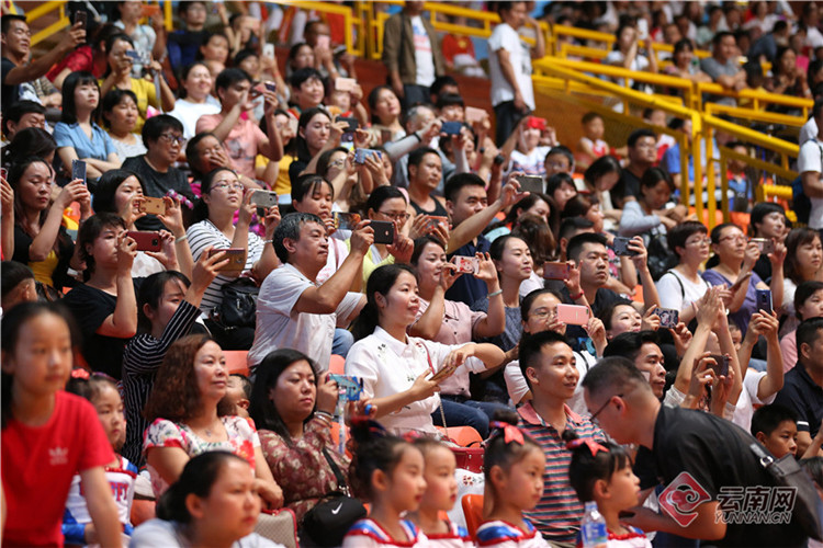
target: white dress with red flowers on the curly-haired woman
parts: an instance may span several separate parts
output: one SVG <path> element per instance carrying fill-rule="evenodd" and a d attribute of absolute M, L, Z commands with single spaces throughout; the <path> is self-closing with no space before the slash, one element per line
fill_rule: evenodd
<path fill-rule="evenodd" d="M 260 447 L 260 438 L 257 435 L 255 423 L 250 419 L 241 416 L 221 416 L 221 421 L 226 429 L 228 439 L 225 442 L 206 442 L 185 424 L 157 419 L 146 429 L 143 452 L 148 457 L 149 449 L 154 447 L 179 447 L 189 457 L 196 457 L 210 450 L 227 450 L 248 460 L 253 470 L 255 449 Z M 151 489 L 155 496 L 160 496 L 169 488 L 169 484 L 151 465 L 148 465 L 148 472 L 151 477 Z"/>

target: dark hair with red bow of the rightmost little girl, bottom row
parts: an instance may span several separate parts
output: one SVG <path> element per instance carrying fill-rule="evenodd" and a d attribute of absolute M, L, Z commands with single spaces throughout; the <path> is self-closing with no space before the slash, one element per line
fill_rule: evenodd
<path fill-rule="evenodd" d="M 568 482 L 580 502 L 595 500 L 595 484 L 609 481 L 611 476 L 631 466 L 631 457 L 620 445 L 596 442 L 593 437 L 578 437 L 572 430 L 563 432 L 566 449 L 572 452 Z"/>

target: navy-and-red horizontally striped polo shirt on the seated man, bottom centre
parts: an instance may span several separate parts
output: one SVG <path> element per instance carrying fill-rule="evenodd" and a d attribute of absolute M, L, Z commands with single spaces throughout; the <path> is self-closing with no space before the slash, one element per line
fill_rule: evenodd
<path fill-rule="evenodd" d="M 578 437 L 595 437 L 606 441 L 604 433 L 588 419 L 578 415 L 568 406 L 566 410 L 566 429 L 574 431 Z M 543 472 L 543 498 L 532 512 L 523 512 L 548 540 L 574 543 L 580 528 L 583 504 L 577 500 L 568 482 L 568 465 L 572 452 L 551 424 L 534 411 L 531 403 L 517 410 L 520 415 L 520 429 L 529 434 L 545 453 L 545 472 Z"/>

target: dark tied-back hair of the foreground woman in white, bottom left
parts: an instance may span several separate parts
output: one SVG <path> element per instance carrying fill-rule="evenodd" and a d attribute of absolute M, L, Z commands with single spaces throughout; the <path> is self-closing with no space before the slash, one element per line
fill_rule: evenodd
<path fill-rule="evenodd" d="M 185 505 L 185 499 L 190 494 L 206 499 L 221 470 L 232 459 L 237 459 L 248 466 L 246 459 L 227 450 L 210 450 L 192 457 L 183 467 L 180 478 L 162 493 L 157 502 L 157 517 L 166 522 L 191 523 L 192 516 Z"/>

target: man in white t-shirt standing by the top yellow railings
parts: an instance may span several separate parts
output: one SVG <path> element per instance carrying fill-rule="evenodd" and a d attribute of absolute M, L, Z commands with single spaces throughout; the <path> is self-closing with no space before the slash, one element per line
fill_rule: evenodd
<path fill-rule="evenodd" d="M 495 26 L 488 38 L 488 68 L 492 104 L 497 119 L 495 140 L 501 147 L 518 121 L 534 110 L 531 59 L 545 55 L 545 41 L 539 23 L 528 16 L 526 2 L 500 2 L 499 14 L 503 22 Z M 526 22 L 537 35 L 537 44 L 531 50 L 517 32 Z"/>

